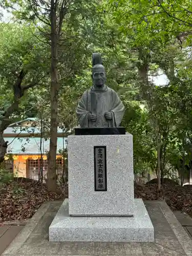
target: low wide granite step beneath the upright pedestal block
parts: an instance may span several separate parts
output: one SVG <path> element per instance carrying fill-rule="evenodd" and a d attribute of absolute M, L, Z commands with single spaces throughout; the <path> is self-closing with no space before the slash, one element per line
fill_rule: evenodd
<path fill-rule="evenodd" d="M 49 227 L 49 241 L 154 242 L 154 227 L 142 199 L 134 217 L 71 217 L 68 199 Z"/>

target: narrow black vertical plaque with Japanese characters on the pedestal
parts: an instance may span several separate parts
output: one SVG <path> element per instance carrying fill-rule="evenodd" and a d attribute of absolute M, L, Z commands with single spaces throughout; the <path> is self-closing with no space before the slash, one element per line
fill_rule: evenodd
<path fill-rule="evenodd" d="M 106 146 L 94 146 L 95 191 L 107 191 Z"/>

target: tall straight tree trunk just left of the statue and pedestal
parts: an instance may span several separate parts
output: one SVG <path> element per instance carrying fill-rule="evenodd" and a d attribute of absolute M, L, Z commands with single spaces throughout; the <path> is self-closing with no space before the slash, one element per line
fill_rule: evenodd
<path fill-rule="evenodd" d="M 57 154 L 57 125 L 58 125 L 58 73 L 57 73 L 57 5 L 51 0 L 51 131 L 50 151 L 48 155 L 47 189 L 56 191 L 56 154 Z"/>

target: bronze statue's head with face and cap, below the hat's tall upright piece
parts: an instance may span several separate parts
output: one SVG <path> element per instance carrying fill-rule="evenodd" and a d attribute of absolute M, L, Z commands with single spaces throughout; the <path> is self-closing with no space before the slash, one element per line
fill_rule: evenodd
<path fill-rule="evenodd" d="M 105 75 L 105 70 L 103 65 L 96 64 L 93 66 L 92 78 L 93 78 L 95 88 L 104 87 L 104 84 L 106 81 L 106 75 Z"/>

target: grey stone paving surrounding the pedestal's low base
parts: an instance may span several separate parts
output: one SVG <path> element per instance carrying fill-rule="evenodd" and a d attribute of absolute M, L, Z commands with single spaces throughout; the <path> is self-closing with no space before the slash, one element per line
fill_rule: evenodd
<path fill-rule="evenodd" d="M 155 243 L 49 242 L 48 229 L 61 202 L 44 203 L 3 256 L 192 256 L 188 234 L 164 201 L 145 202 Z"/>

